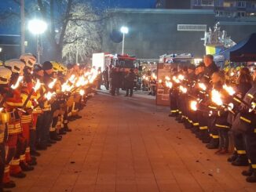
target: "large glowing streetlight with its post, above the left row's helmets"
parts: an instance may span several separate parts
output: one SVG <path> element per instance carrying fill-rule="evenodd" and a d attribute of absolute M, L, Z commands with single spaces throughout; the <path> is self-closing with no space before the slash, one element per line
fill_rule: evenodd
<path fill-rule="evenodd" d="M 31 31 L 32 34 L 37 35 L 37 54 L 38 54 L 38 63 L 40 63 L 40 54 L 42 54 L 42 45 L 41 45 L 41 36 L 47 29 L 47 24 L 43 20 L 30 20 L 28 22 L 28 30 Z M 40 38 L 39 38 L 40 37 Z"/>

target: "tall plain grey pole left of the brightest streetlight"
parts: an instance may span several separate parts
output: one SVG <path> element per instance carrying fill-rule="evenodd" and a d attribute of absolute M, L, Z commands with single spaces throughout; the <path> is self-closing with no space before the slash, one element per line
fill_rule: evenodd
<path fill-rule="evenodd" d="M 25 2 L 20 0 L 20 53 L 25 53 Z"/>

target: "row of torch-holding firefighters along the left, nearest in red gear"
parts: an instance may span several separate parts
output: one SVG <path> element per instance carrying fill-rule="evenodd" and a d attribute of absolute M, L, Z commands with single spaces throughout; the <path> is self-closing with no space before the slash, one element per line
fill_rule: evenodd
<path fill-rule="evenodd" d="M 37 165 L 38 150 L 62 139 L 95 92 L 97 71 L 78 64 L 36 64 L 30 53 L 0 67 L 0 191 Z M 6 149 L 6 150 L 5 150 Z"/>

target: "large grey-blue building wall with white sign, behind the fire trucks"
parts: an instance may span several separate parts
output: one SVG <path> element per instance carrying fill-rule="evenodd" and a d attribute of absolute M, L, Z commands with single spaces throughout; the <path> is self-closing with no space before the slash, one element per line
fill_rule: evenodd
<path fill-rule="evenodd" d="M 124 52 L 140 59 L 156 59 L 163 54 L 192 53 L 203 56 L 205 31 L 218 22 L 213 9 L 115 9 L 105 20 L 102 51 L 121 53 L 122 26 L 129 27 Z M 240 42 L 256 31 L 255 22 L 219 22 L 232 41 Z"/>

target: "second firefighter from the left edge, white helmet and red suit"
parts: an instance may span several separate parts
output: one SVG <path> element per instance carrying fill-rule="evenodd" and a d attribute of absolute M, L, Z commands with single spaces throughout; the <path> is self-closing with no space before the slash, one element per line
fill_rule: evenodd
<path fill-rule="evenodd" d="M 33 168 L 24 164 L 24 161 L 20 161 L 20 152 L 23 149 L 24 137 L 22 136 L 22 129 L 20 125 L 21 112 L 18 108 L 23 107 L 23 102 L 20 97 L 20 91 L 17 89 L 19 87 L 19 75 L 23 74 L 23 69 L 25 63 L 20 60 L 8 60 L 5 62 L 5 67 L 9 68 L 13 74 L 10 79 L 10 85 L 12 88 L 9 89 L 9 96 L 5 102 L 5 109 L 8 113 L 8 139 L 6 141 L 6 146 L 8 150 L 6 151 L 5 159 L 5 175 L 3 182 L 6 185 L 12 185 L 9 179 L 9 175 L 16 178 L 24 178 L 26 174 L 21 169 L 23 166 L 24 171 L 31 171 Z M 13 87 L 15 85 L 15 87 Z"/>

